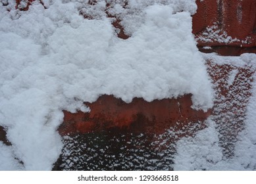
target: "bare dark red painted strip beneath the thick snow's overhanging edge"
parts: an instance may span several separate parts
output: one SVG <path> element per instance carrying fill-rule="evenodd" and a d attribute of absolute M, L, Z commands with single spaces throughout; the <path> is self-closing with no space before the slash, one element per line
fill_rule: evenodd
<path fill-rule="evenodd" d="M 67 133 L 86 133 L 112 128 L 127 129 L 132 132 L 163 133 L 174 127 L 176 122 L 203 121 L 211 114 L 202 110 L 193 110 L 191 95 L 178 99 L 163 99 L 152 102 L 135 98 L 131 103 L 124 103 L 112 95 L 103 95 L 90 106 L 90 113 L 72 114 L 64 111 L 64 121 L 59 128 L 61 135 Z M 180 126 L 180 128 L 182 128 Z"/>

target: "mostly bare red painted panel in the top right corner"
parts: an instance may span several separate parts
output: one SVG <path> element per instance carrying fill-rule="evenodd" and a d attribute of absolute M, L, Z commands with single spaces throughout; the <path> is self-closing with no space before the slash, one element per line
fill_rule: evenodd
<path fill-rule="evenodd" d="M 217 25 L 220 34 L 226 32 L 233 43 L 205 43 L 197 41 L 198 46 L 255 47 L 256 46 L 256 1 L 255 0 L 197 0 L 197 13 L 193 15 L 193 34 L 204 37 L 203 32 L 209 26 Z M 220 35 L 219 34 L 219 35 Z"/>

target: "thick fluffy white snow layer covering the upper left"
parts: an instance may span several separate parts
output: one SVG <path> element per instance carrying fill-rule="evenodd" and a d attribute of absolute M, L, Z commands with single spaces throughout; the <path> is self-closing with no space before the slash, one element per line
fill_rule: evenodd
<path fill-rule="evenodd" d="M 1 154 L 6 162 L 21 160 L 24 170 L 51 170 L 62 148 L 56 131 L 62 110 L 89 111 L 84 101 L 99 95 L 130 102 L 192 93 L 193 108 L 213 105 L 192 35 L 194 0 L 130 0 L 130 12 L 122 13 L 126 40 L 116 37 L 105 1 L 80 2 L 43 1 L 44 9 L 35 1 L 26 12 L 14 9 L 14 0 L 0 3 L 0 126 L 12 143 L 1 145 Z M 78 9 L 95 19 L 84 19 Z"/>

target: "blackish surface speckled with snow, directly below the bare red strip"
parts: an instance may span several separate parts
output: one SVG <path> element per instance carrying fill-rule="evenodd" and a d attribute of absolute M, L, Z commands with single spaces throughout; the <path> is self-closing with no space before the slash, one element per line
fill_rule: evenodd
<path fill-rule="evenodd" d="M 160 135 L 124 129 L 65 135 L 58 169 L 173 170 L 176 141 L 202 129 L 203 125 L 203 122 L 180 122 Z"/>

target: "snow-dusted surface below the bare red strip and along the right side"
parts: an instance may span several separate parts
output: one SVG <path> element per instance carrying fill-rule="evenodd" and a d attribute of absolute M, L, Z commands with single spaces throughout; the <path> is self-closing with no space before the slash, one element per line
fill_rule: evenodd
<path fill-rule="evenodd" d="M 161 135 L 103 131 L 64 136 L 59 168 L 256 170 L 256 55 L 203 57 L 215 89 L 213 112 L 205 122 L 177 122 L 182 129 L 172 126 Z"/>

